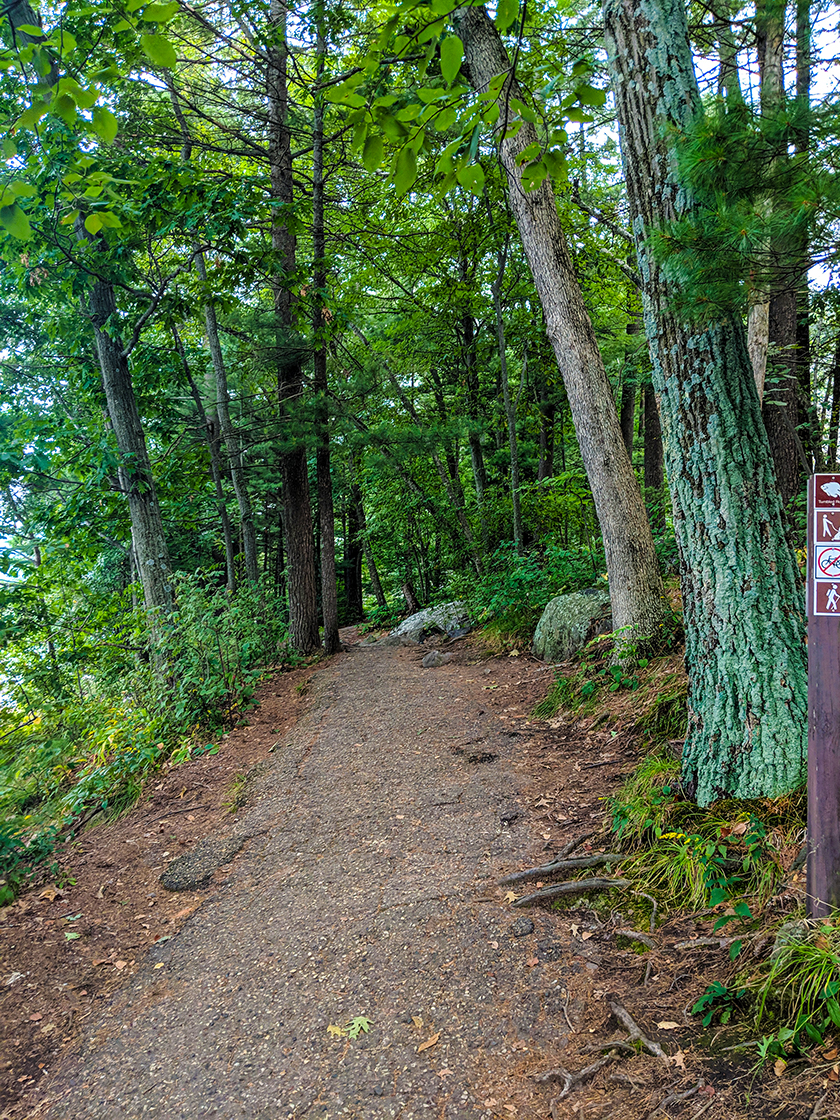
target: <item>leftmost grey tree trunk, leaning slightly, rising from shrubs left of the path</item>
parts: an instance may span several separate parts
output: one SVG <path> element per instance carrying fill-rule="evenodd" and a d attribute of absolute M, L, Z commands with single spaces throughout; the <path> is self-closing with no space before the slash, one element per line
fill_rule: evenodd
<path fill-rule="evenodd" d="M 81 237 L 84 239 L 84 232 Z M 123 480 L 129 503 L 131 540 L 143 587 L 146 609 L 152 619 L 153 632 L 157 617 L 168 614 L 172 608 L 169 549 L 164 533 L 146 436 L 134 398 L 131 371 L 123 354 L 122 340 L 113 327 L 116 323 L 116 300 L 111 284 L 97 280 L 91 291 L 88 306 L 108 414 L 122 459 L 120 478 Z M 109 320 L 109 329 L 105 329 Z"/>

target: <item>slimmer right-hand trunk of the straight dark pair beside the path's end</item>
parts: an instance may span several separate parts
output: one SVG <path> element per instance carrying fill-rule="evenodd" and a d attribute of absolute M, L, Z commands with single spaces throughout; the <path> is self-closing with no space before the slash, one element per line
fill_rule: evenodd
<path fill-rule="evenodd" d="M 324 11 L 318 6 L 318 31 L 316 81 L 324 76 L 326 39 L 321 30 Z M 338 589 L 335 573 L 335 510 L 333 507 L 333 473 L 329 454 L 329 408 L 327 404 L 327 339 L 324 318 L 324 301 L 327 289 L 326 239 L 324 234 L 324 100 L 315 95 L 315 121 L 312 129 L 312 255 L 315 267 L 312 336 L 312 389 L 317 394 L 316 472 L 318 476 L 318 519 L 320 525 L 320 600 L 324 615 L 324 648 L 337 653 L 338 640 Z"/>

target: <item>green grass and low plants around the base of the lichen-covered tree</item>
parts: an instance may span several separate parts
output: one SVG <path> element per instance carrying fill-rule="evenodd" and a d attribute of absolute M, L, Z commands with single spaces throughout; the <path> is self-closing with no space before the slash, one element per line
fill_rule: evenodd
<path fill-rule="evenodd" d="M 804 787 L 697 805 L 680 776 L 681 652 L 617 670 L 610 645 L 598 638 L 563 665 L 533 716 L 606 729 L 629 724 L 638 739 L 636 767 L 605 799 L 605 847 L 618 857 L 609 868 L 632 885 L 623 904 L 635 926 L 650 923 L 652 932 L 669 917 L 701 918 L 708 933 L 697 946 L 728 954 L 690 1008 L 713 1049 L 740 1053 L 756 1072 L 771 1063 L 776 1076 L 810 1068 L 837 1081 L 840 914 L 806 917 Z M 614 900 L 591 896 L 589 905 Z"/>

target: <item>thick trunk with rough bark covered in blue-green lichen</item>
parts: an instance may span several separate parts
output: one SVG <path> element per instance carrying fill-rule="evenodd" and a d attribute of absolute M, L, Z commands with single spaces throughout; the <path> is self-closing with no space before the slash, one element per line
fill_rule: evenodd
<path fill-rule="evenodd" d="M 745 333 L 680 321 L 646 240 L 692 208 L 671 147 L 701 112 L 683 0 L 606 0 L 605 22 L 681 557 L 683 783 L 700 804 L 774 796 L 804 776 L 804 603 Z"/>

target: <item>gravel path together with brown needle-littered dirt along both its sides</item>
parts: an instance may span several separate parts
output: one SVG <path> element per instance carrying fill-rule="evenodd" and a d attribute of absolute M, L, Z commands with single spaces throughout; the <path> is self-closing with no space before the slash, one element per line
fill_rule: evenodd
<path fill-rule="evenodd" d="M 640 955 L 616 943 L 627 914 L 514 908 L 500 886 L 601 827 L 638 757 L 632 706 L 540 721 L 553 673 L 525 654 L 469 638 L 424 670 L 426 648 L 343 637 L 0 911 L 0 1118 L 840 1112 L 834 1083 L 702 1037 L 688 1010 L 728 956 L 675 946 L 708 923 L 666 918 Z M 166 890 L 206 838 L 228 861 Z M 542 1074 L 626 1039 L 610 1001 L 666 1056 L 629 1048 L 558 1099 Z"/>

